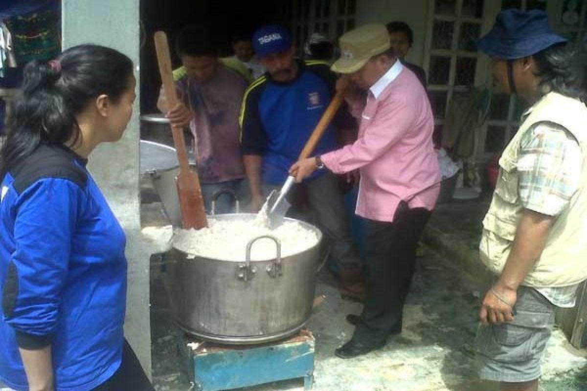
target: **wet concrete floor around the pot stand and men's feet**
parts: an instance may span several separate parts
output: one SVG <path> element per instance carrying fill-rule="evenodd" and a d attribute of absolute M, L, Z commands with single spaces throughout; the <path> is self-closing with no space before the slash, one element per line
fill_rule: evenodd
<path fill-rule="evenodd" d="M 195 389 L 183 372 L 164 290 L 161 266 L 151 267 L 151 328 L 153 376 L 158 391 Z M 483 287 L 458 270 L 450 260 L 427 249 L 419 259 L 407 300 L 404 331 L 379 351 L 342 360 L 333 355 L 353 327 L 345 315 L 358 314 L 361 305 L 342 300 L 335 281 L 322 270 L 316 295 L 326 300 L 314 311 L 308 327 L 316 338 L 317 391 L 465 391 L 495 390 L 475 375 L 474 336 Z M 587 352 L 576 351 L 555 330 L 543 363 L 545 391 L 587 391 Z M 302 390 L 302 380 L 248 387 L 247 391 Z M 241 391 L 244 391 L 242 389 Z"/>

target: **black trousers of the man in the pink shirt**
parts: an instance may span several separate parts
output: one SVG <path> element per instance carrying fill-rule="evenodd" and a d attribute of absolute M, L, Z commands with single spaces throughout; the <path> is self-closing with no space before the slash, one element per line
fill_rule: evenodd
<path fill-rule="evenodd" d="M 393 223 L 366 221 L 367 298 L 353 339 L 380 344 L 402 329 L 403 307 L 416 262 L 416 246 L 430 211 L 400 203 Z"/>

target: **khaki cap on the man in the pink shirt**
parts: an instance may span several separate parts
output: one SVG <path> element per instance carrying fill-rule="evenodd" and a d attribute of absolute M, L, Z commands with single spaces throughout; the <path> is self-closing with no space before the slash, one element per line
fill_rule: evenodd
<path fill-rule="evenodd" d="M 339 38 L 340 59 L 332 64 L 338 73 L 354 73 L 373 56 L 390 48 L 389 33 L 384 25 L 369 24 L 350 30 Z"/>

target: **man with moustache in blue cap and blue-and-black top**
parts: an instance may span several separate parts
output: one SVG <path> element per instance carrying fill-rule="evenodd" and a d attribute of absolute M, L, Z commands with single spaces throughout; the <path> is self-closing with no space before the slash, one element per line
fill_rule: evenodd
<path fill-rule="evenodd" d="M 327 63 L 295 60 L 291 35 L 281 26 L 257 30 L 253 45 L 267 73 L 246 91 L 240 122 L 242 154 L 251 186 L 251 209 L 256 212 L 268 193 L 281 188 L 286 181 L 289 168 L 298 160 L 333 97 L 336 77 Z M 341 108 L 313 154 L 334 151 L 343 138 L 340 136 L 349 134 L 355 127 L 346 106 Z M 330 242 L 330 254 L 339 263 L 342 293 L 362 299 L 365 288 L 359 254 L 350 236 L 338 178 L 319 170 L 301 186 L 319 227 Z"/>

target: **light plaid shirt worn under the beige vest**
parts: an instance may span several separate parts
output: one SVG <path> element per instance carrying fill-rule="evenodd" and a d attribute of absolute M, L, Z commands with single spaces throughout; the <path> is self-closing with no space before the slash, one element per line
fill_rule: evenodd
<path fill-rule="evenodd" d="M 558 216 L 579 188 L 583 155 L 571 132 L 554 123 L 537 123 L 520 141 L 519 196 L 524 208 Z M 577 285 L 537 288 L 552 304 L 574 307 Z"/>

